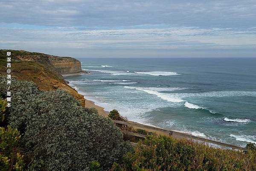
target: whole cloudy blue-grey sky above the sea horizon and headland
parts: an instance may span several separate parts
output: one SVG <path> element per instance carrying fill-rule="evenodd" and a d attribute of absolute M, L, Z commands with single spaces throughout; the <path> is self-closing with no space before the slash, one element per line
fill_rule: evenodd
<path fill-rule="evenodd" d="M 256 57 L 256 0 L 1 0 L 0 49 L 71 57 Z"/>

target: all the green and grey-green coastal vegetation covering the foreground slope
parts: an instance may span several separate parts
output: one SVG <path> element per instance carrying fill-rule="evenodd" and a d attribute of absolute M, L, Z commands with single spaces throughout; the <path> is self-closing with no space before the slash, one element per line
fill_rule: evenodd
<path fill-rule="evenodd" d="M 147 136 L 132 151 L 111 119 L 66 92 L 41 92 L 12 79 L 6 110 L 4 85 L 0 77 L 0 116 L 8 121 L 0 128 L 0 171 L 256 171 L 253 144 L 244 153 L 124 128 Z M 112 114 L 123 119 L 117 110 Z"/>

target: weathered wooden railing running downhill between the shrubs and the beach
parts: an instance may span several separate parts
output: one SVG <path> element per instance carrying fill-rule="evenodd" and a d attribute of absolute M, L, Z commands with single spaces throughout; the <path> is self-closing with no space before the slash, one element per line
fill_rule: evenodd
<path fill-rule="evenodd" d="M 218 141 L 214 141 L 214 140 L 211 140 L 211 139 L 206 139 L 206 138 L 202 138 L 202 137 L 198 137 L 198 136 L 193 136 L 189 133 L 181 133 L 181 132 L 174 131 L 174 130 L 167 130 L 167 129 L 153 127 L 153 126 L 149 126 L 149 125 L 143 125 L 143 124 L 139 124 L 137 122 L 123 122 L 123 121 L 117 121 L 117 120 L 112 120 L 112 121 L 116 124 L 129 125 L 129 126 L 133 126 L 133 127 L 140 128 L 140 129 L 152 130 L 153 132 L 157 131 L 158 133 L 161 133 L 163 135 L 169 135 L 169 136 L 172 136 L 172 137 L 177 138 L 177 139 L 185 138 L 185 139 L 197 140 L 197 141 L 201 141 L 201 142 L 204 142 L 204 143 L 211 143 L 211 144 L 215 144 L 215 145 L 220 145 L 220 146 L 223 146 L 223 147 L 226 147 L 226 148 L 232 148 L 232 149 L 237 149 L 237 150 L 241 150 L 241 151 L 247 151 L 246 148 L 242 148 L 242 147 L 239 147 L 239 146 L 236 146 L 236 145 L 230 145 L 230 144 L 226 144 L 226 143 L 223 143 L 223 142 L 218 142 Z M 139 134 L 139 133 L 133 133 L 133 132 L 127 132 L 127 131 L 123 131 L 123 132 L 127 133 L 129 135 L 132 135 L 132 136 L 140 137 L 140 138 L 145 138 L 146 137 L 145 135 Z M 133 143 L 132 145 L 136 146 L 136 143 Z"/>

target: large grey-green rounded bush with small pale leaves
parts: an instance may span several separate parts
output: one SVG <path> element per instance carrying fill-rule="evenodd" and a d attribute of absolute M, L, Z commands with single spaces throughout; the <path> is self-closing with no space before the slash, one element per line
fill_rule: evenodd
<path fill-rule="evenodd" d="M 0 93 L 6 94 L 0 80 Z M 31 82 L 12 79 L 9 124 L 18 128 L 31 156 L 30 170 L 84 171 L 97 160 L 110 168 L 131 150 L 111 119 L 81 107 L 64 91 L 40 92 Z"/>

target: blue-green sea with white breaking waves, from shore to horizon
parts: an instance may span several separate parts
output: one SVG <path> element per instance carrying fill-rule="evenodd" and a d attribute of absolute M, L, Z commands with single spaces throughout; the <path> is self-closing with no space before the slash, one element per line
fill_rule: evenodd
<path fill-rule="evenodd" d="M 65 79 L 105 110 L 245 146 L 256 143 L 256 58 L 78 58 Z"/>

